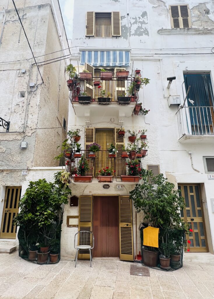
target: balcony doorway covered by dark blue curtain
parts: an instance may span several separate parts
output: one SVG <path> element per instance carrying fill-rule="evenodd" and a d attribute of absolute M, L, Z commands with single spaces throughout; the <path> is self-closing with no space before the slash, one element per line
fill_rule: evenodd
<path fill-rule="evenodd" d="M 187 121 L 188 132 L 192 135 L 214 135 L 214 97 L 210 74 L 184 74 L 184 84 L 186 92 L 190 86 L 186 115 L 190 119 Z"/>

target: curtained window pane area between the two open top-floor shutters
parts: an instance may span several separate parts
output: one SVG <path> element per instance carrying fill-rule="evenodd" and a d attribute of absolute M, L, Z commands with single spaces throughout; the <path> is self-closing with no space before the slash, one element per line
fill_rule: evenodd
<path fill-rule="evenodd" d="M 112 37 L 111 13 L 95 13 L 95 36 Z"/>

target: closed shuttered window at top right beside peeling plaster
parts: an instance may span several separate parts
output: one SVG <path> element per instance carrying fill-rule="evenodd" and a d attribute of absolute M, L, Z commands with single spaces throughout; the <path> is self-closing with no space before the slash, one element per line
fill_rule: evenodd
<path fill-rule="evenodd" d="M 170 17 L 172 28 L 190 28 L 189 5 L 171 5 Z"/>

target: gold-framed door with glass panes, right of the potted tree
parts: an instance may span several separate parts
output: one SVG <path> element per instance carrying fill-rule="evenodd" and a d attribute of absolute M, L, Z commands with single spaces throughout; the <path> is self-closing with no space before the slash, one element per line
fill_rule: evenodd
<path fill-rule="evenodd" d="M 180 184 L 181 196 L 184 197 L 186 208 L 181 210 L 181 217 L 188 222 L 189 228 L 193 230 L 188 235 L 191 241 L 188 244 L 190 252 L 207 252 L 207 239 L 204 224 L 203 207 L 201 201 L 201 190 L 198 184 Z"/>

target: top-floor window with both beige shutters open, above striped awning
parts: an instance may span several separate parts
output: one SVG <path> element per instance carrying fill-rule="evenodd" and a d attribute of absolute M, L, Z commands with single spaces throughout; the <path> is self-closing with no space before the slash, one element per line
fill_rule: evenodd
<path fill-rule="evenodd" d="M 86 36 L 112 37 L 121 36 L 120 13 L 86 13 Z"/>

